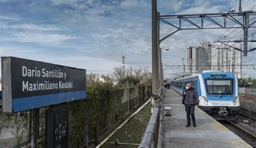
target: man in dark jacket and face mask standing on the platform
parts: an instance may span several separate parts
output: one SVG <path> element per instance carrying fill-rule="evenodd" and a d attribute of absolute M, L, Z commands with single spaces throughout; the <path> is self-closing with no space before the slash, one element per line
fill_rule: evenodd
<path fill-rule="evenodd" d="M 196 127 L 196 118 L 194 117 L 194 107 L 195 105 L 197 108 L 199 107 L 199 98 L 197 94 L 197 90 L 191 87 L 190 82 L 186 83 L 186 90 L 183 93 L 183 104 L 185 104 L 185 109 L 187 113 L 187 125 L 186 127 L 191 125 L 191 118 L 192 117 L 192 122 L 193 126 Z"/>

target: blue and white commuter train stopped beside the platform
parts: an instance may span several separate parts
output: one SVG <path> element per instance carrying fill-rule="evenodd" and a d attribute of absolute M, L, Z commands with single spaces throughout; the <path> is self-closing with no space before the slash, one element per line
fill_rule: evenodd
<path fill-rule="evenodd" d="M 240 110 L 238 80 L 233 73 L 203 71 L 170 82 L 182 94 L 186 83 L 197 90 L 199 108 L 217 120 L 233 120 Z"/>

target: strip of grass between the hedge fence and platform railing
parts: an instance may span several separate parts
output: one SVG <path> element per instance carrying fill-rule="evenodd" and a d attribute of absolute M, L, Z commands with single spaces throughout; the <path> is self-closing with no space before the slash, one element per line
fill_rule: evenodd
<path fill-rule="evenodd" d="M 139 144 L 142 140 L 146 126 L 149 123 L 151 116 L 151 107 L 147 105 L 142 111 L 139 112 L 129 123 L 127 123 L 122 129 L 120 129 L 114 136 L 112 136 L 109 142 L 119 143 L 135 143 Z M 138 147 L 136 145 L 114 145 L 104 144 L 102 147 Z"/>

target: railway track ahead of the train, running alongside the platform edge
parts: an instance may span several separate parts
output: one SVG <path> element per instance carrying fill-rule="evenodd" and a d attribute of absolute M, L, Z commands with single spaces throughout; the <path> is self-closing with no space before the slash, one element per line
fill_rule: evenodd
<path fill-rule="evenodd" d="M 252 147 L 256 147 L 256 137 L 251 133 L 247 132 L 246 130 L 240 128 L 239 126 L 235 125 L 230 121 L 218 121 L 218 122 L 226 126 L 226 128 L 234 132 L 237 136 L 242 138 L 246 143 L 250 144 Z"/>

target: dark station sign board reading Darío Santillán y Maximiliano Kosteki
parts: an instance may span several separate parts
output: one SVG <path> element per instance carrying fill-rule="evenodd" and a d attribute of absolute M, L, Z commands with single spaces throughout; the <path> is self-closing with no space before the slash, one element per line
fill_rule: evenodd
<path fill-rule="evenodd" d="M 86 97 L 86 71 L 2 57 L 3 111 L 19 112 Z"/>

